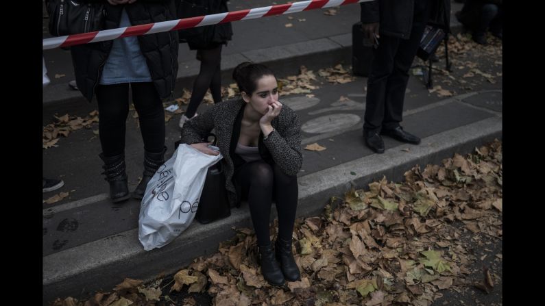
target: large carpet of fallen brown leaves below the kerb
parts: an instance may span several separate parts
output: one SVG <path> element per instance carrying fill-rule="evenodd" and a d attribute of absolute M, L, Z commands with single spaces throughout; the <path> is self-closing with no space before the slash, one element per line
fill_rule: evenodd
<path fill-rule="evenodd" d="M 415 166 L 404 183 L 386 178 L 368 190 L 332 198 L 322 216 L 296 220 L 293 253 L 300 281 L 273 287 L 257 263 L 256 238 L 237 229 L 214 255 L 199 257 L 173 277 L 170 291 L 206 292 L 214 305 L 430 305 L 441 290 L 494 289 L 494 272 L 470 279 L 476 261 L 463 237 L 502 238 L 502 144 L 495 140 L 466 157 Z M 271 227 L 274 238 L 276 225 Z M 501 260 L 501 254 L 496 255 Z M 482 275 L 482 274 L 481 274 Z M 113 293 L 54 306 L 196 305 L 173 301 L 160 280 L 125 279 Z M 173 296 L 173 294 L 171 294 Z M 73 302 L 73 303 L 72 303 Z"/>

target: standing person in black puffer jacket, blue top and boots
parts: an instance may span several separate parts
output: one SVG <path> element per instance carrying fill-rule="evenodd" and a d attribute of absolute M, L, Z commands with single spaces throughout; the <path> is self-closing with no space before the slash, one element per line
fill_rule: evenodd
<path fill-rule="evenodd" d="M 174 0 L 108 0 L 104 29 L 176 19 Z M 129 199 L 125 173 L 125 121 L 129 88 L 144 142 L 144 171 L 133 196 L 142 199 L 147 182 L 165 162 L 165 110 L 178 73 L 178 33 L 165 31 L 71 47 L 77 88 L 99 107 L 104 175 L 114 203 Z"/>

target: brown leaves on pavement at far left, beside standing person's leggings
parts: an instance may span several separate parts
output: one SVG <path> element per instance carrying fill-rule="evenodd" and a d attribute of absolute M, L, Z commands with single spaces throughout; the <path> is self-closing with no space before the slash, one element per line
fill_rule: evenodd
<path fill-rule="evenodd" d="M 99 112 L 94 110 L 90 112 L 85 118 L 78 116 L 69 116 L 65 114 L 64 116 L 53 116 L 55 121 L 49 123 L 43 128 L 42 131 L 42 147 L 43 149 L 49 149 L 51 146 L 57 146 L 60 136 L 68 137 L 69 133 L 72 131 L 77 131 L 78 129 L 87 128 L 89 129 L 93 123 L 99 122 Z"/>

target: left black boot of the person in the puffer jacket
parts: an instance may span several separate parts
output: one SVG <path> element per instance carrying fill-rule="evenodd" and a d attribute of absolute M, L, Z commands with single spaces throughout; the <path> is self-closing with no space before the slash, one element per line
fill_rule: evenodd
<path fill-rule="evenodd" d="M 104 161 L 104 172 L 106 181 L 110 183 L 110 199 L 117 203 L 130 198 L 129 188 L 127 186 L 127 174 L 125 173 L 125 154 L 121 153 L 112 157 L 104 156 L 100 153 L 99 157 Z"/>

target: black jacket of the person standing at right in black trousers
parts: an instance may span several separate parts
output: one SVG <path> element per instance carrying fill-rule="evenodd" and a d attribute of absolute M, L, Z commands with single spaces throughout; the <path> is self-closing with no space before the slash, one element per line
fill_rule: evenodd
<path fill-rule="evenodd" d="M 409 39 L 413 27 L 414 0 L 375 0 L 360 3 L 362 23 L 380 23 L 380 34 Z M 429 0 L 430 23 L 450 29 L 450 0 Z"/>

